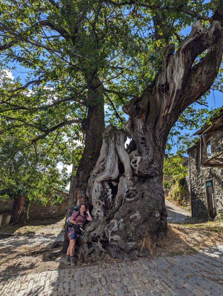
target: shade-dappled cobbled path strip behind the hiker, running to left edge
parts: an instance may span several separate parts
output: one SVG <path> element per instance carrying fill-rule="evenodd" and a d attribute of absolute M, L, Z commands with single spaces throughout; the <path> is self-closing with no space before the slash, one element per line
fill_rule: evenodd
<path fill-rule="evenodd" d="M 58 235 L 32 235 L 32 236 L 14 236 L 0 239 L 0 252 L 2 248 L 6 247 L 20 247 L 20 246 L 38 246 L 38 245 L 47 245 L 53 244 L 57 241 L 61 241 L 64 239 L 64 233 L 60 233 Z"/>

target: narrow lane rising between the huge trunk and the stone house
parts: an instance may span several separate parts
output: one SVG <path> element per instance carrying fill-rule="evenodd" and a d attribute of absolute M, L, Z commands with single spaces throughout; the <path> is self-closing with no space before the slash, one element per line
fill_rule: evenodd
<path fill-rule="evenodd" d="M 168 200 L 165 200 L 166 210 L 168 213 L 167 220 L 171 223 L 181 223 L 186 218 L 191 217 L 191 213 L 185 211 L 177 205 L 173 205 Z"/>

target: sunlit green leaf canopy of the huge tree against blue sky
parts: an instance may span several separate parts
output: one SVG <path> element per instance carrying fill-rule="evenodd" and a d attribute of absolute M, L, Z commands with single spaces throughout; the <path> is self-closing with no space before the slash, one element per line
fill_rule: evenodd
<path fill-rule="evenodd" d="M 18 141 L 8 164 L 37 143 L 45 157 L 54 151 L 64 163 L 78 163 L 82 149 L 76 141 L 84 142 L 88 107 L 107 106 L 106 125 L 123 128 L 121 106 L 155 85 L 167 46 L 177 50 L 182 30 L 196 20 L 206 27 L 221 20 L 222 6 L 185 0 L 4 0 L 0 13 L 0 133 Z M 8 65 L 22 77 L 7 78 Z M 222 91 L 221 75 L 222 68 L 213 89 Z M 102 94 L 94 96 L 99 86 Z M 207 94 L 195 101 L 205 104 Z M 204 114 L 188 107 L 170 136 L 179 136 L 182 126 L 198 126 Z"/>

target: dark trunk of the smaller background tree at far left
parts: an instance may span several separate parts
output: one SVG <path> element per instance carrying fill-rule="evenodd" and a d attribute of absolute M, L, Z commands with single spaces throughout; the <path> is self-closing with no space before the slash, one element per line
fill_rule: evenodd
<path fill-rule="evenodd" d="M 25 222 L 27 218 L 26 213 L 28 207 L 29 203 L 26 202 L 25 196 L 22 194 L 18 194 L 18 196 L 14 198 L 9 224 L 15 225 Z"/>

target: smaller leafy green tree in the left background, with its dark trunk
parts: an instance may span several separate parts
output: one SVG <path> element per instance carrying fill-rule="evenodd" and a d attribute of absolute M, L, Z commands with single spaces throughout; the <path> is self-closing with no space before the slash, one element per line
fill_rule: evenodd
<path fill-rule="evenodd" d="M 28 220 L 31 202 L 46 205 L 47 195 L 54 195 L 55 187 L 59 189 L 68 183 L 67 173 L 57 169 L 59 157 L 55 151 L 46 157 L 40 146 L 20 150 L 24 146 L 24 141 L 16 136 L 0 138 L 0 199 L 14 200 L 9 221 L 12 225 Z"/>

